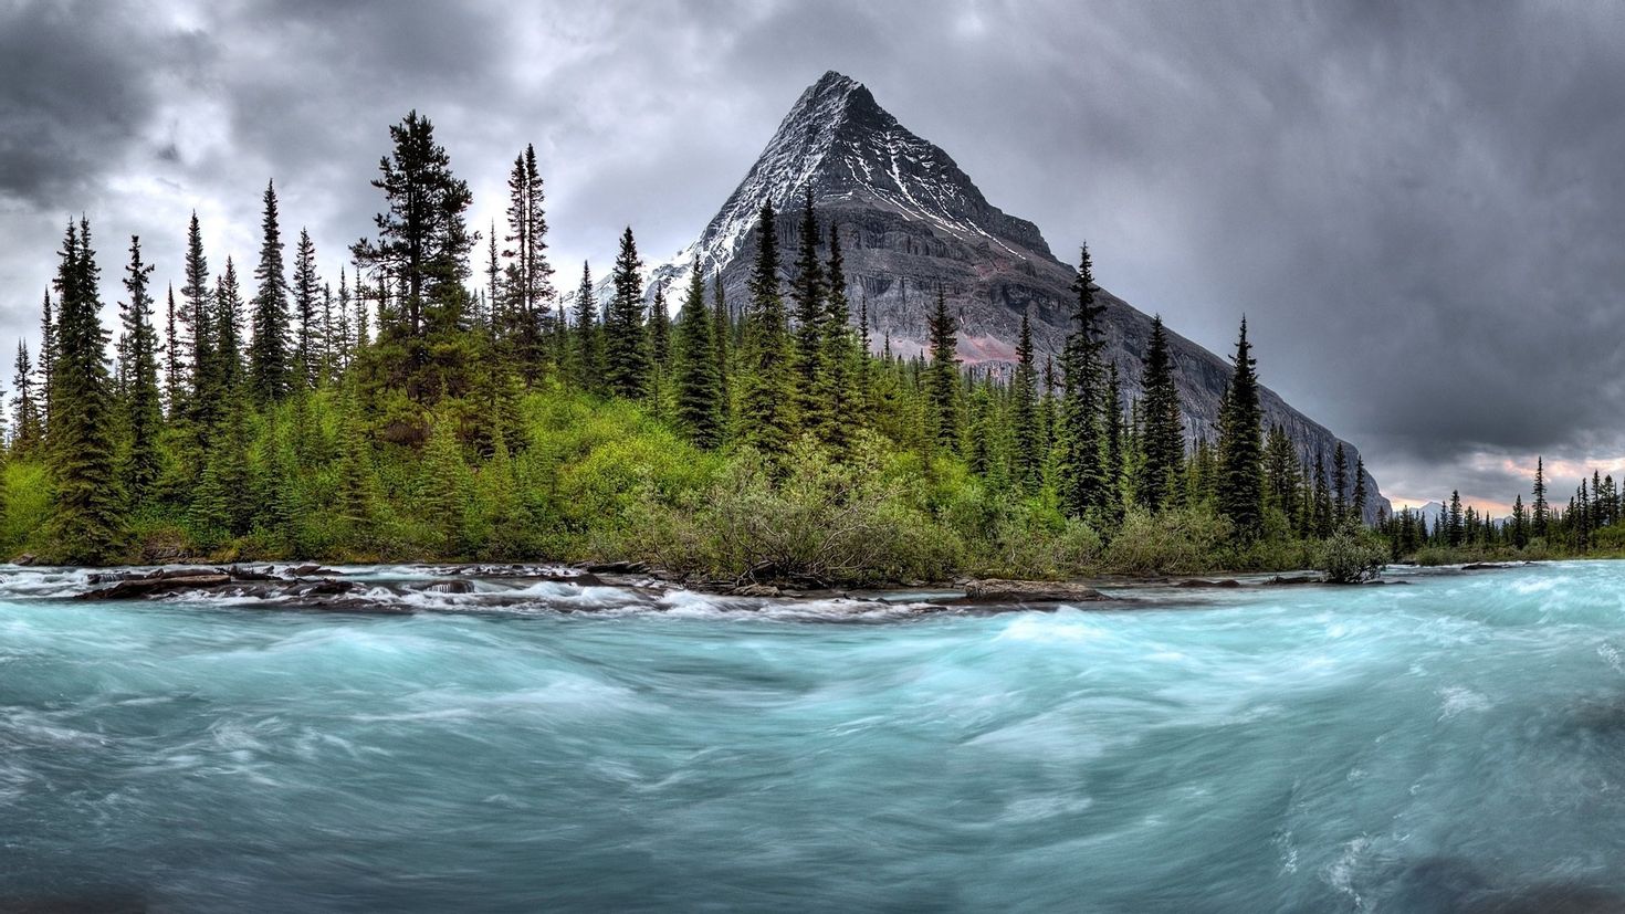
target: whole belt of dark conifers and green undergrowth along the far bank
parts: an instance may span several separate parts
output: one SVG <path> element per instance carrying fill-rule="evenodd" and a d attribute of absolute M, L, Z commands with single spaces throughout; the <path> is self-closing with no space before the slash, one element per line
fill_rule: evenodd
<path fill-rule="evenodd" d="M 874 339 L 840 226 L 811 192 L 762 209 L 744 302 L 694 265 L 647 305 L 630 227 L 606 300 L 587 265 L 572 299 L 533 148 L 514 159 L 505 224 L 479 232 L 429 119 L 406 115 L 388 140 L 374 227 L 336 278 L 289 231 L 275 183 L 242 266 L 205 250 L 197 216 L 164 273 L 143 239 L 109 258 L 88 219 L 68 222 L 39 347 L 16 352 L 5 549 L 89 565 L 634 560 L 696 580 L 879 583 L 1305 567 L 1358 580 L 1383 560 L 1625 544 L 1612 477 L 1583 482 L 1566 511 L 1537 479 L 1506 523 L 1458 497 L 1435 529 L 1410 511 L 1367 529 L 1358 461 L 1263 427 L 1245 320 L 1217 440 L 1188 443 L 1160 320 L 1141 364 L 1103 362 L 1087 247 L 1064 351 L 1037 352 L 1024 317 L 1016 365 L 991 372 L 956 357 L 941 292 L 928 352 Z M 122 289 L 112 328 L 104 269 Z"/>

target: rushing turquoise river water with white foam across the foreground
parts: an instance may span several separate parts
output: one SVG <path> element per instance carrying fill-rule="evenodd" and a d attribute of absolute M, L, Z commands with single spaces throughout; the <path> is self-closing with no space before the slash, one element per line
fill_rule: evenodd
<path fill-rule="evenodd" d="M 416 612 L 0 570 L 0 909 L 1625 906 L 1625 565 L 1009 614 L 346 571 Z"/>

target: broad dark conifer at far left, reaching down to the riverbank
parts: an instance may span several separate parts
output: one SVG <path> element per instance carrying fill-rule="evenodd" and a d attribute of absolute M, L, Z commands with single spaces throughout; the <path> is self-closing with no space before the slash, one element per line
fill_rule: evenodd
<path fill-rule="evenodd" d="M 101 565 L 125 544 L 124 492 L 114 464 L 107 331 L 101 323 L 89 221 L 70 222 L 57 269 L 57 360 L 50 448 L 55 469 L 50 537 L 57 558 Z"/>

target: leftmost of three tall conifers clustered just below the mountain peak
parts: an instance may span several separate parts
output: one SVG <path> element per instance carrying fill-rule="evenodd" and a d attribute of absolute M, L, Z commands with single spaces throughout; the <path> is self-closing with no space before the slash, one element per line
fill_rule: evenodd
<path fill-rule="evenodd" d="M 765 455 L 783 453 L 793 435 L 795 380 L 790 360 L 785 299 L 778 284 L 778 231 L 772 205 L 762 203 L 739 352 L 739 437 Z"/>

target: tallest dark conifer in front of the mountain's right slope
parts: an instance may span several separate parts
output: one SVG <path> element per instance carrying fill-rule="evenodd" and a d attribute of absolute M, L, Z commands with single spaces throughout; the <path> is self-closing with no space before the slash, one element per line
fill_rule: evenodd
<path fill-rule="evenodd" d="M 1084 516 L 1105 503 L 1105 472 L 1100 453 L 1100 341 L 1095 320 L 1105 307 L 1095 304 L 1095 278 L 1089 245 L 1082 247 L 1077 276 L 1072 281 L 1077 300 L 1072 308 L 1072 331 L 1061 357 L 1061 500 L 1068 513 Z"/>

